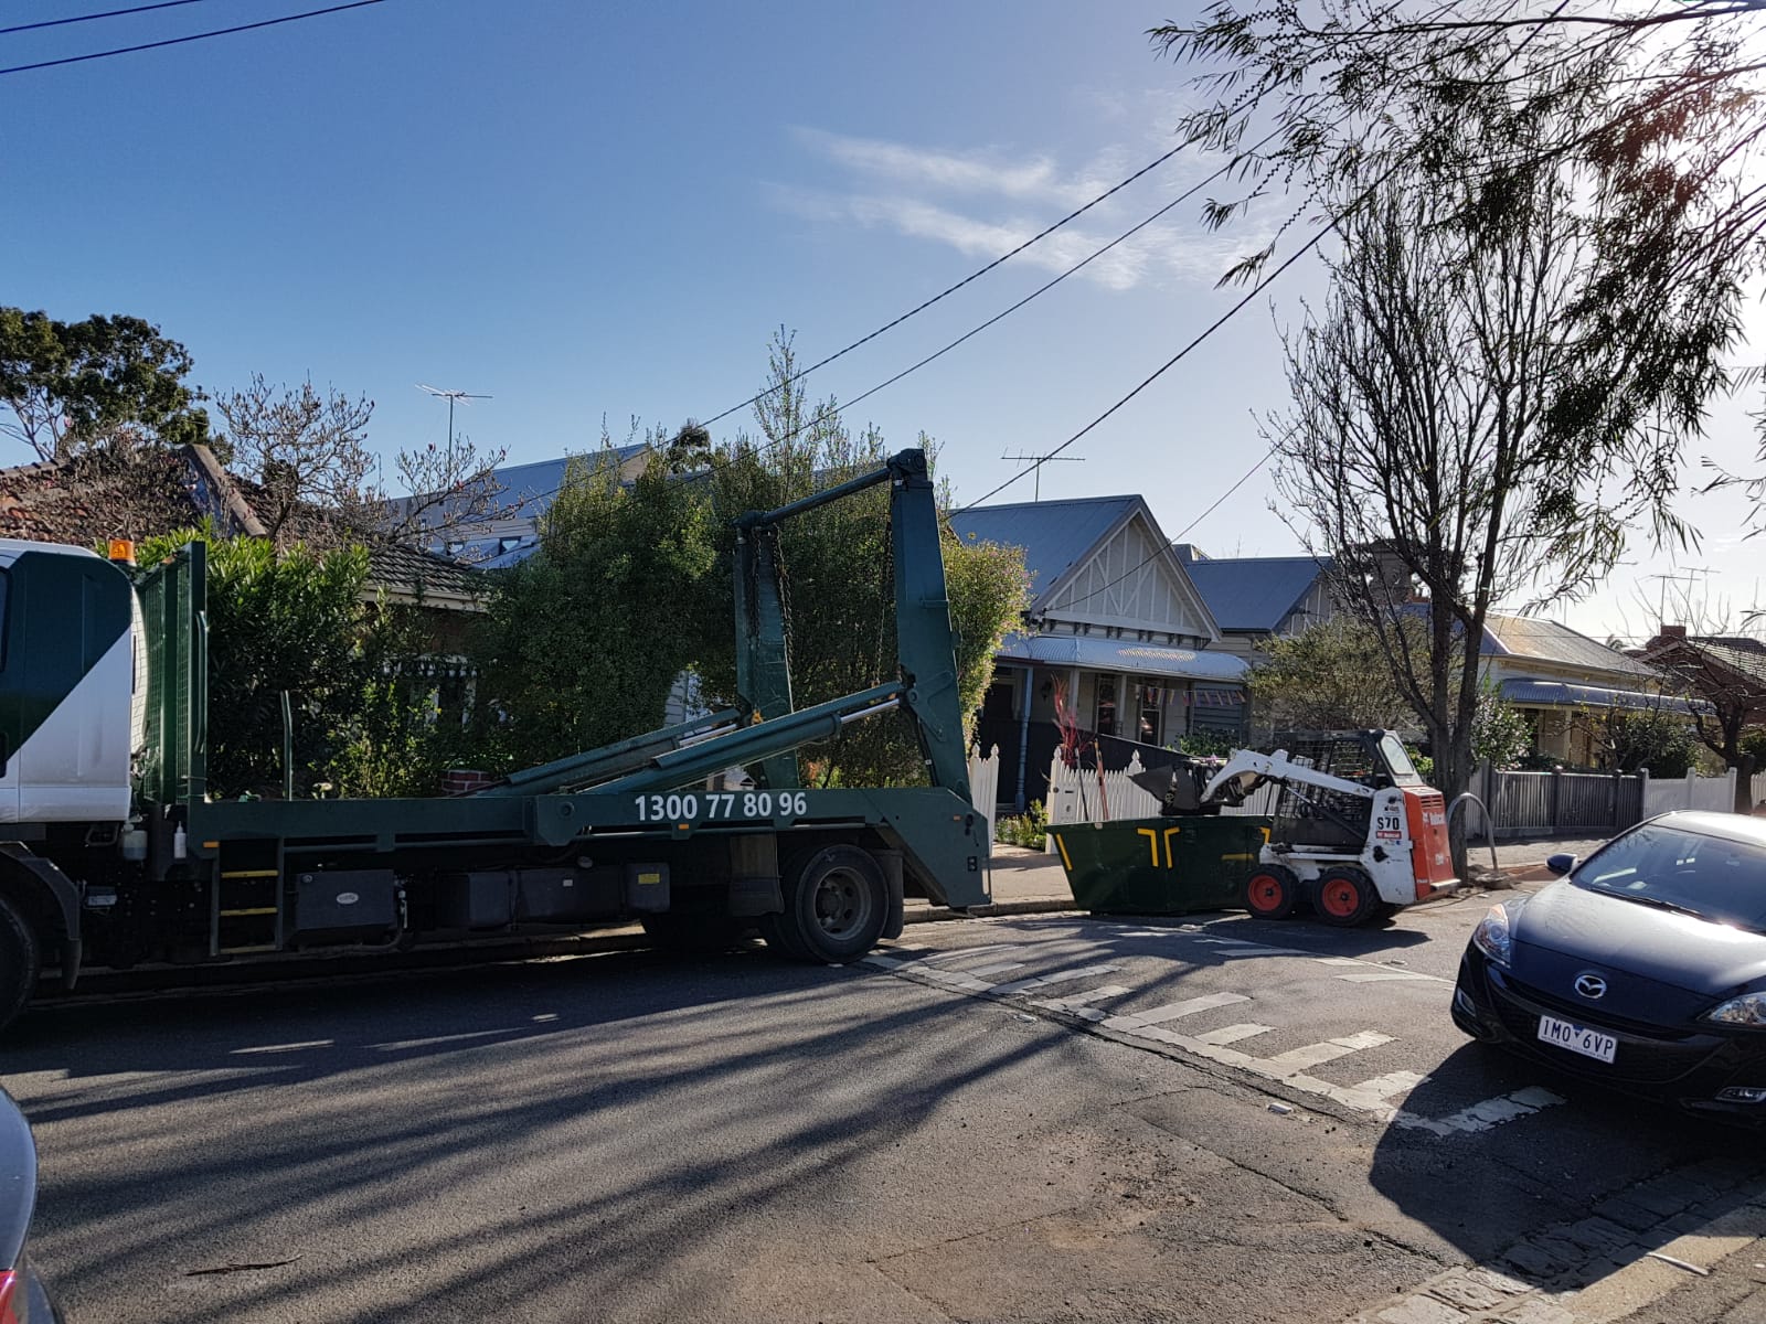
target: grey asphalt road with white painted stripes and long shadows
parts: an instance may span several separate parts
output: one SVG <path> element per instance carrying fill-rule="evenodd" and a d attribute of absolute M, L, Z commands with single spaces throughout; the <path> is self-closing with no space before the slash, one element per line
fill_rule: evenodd
<path fill-rule="evenodd" d="M 76 1324 L 1565 1324 L 1566 1283 L 1664 1268 L 1621 1236 L 1685 1260 L 1754 1227 L 1757 1146 L 1468 1045 L 1446 1006 L 1485 906 L 69 1006 L 0 1079 Z M 1662 1319 L 1766 1306 L 1732 1266 L 1626 1282 Z"/>

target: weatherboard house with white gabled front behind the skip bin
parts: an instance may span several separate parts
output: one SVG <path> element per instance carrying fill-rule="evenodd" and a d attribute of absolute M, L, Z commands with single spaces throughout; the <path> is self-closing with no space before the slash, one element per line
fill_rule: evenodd
<path fill-rule="evenodd" d="M 1247 664 L 1220 651 L 1220 627 L 1144 500 L 973 507 L 950 524 L 964 542 L 1021 547 L 1030 570 L 1031 602 L 996 655 L 978 726 L 982 745 L 1000 747 L 1003 800 L 1045 793 L 1058 696 L 1111 768 L 1136 745 L 1241 733 Z"/>

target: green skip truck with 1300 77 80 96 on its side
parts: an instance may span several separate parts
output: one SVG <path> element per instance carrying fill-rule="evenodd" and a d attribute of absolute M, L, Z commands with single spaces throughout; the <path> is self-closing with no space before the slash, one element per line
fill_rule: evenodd
<path fill-rule="evenodd" d="M 795 710 L 781 523 L 888 484 L 895 680 Z M 641 920 L 848 962 L 908 888 L 987 900 L 925 454 L 736 521 L 733 706 L 433 800 L 210 800 L 205 549 L 0 540 L 0 1027 L 58 974 L 290 960 Z M 927 786 L 802 786 L 795 750 L 902 711 Z"/>

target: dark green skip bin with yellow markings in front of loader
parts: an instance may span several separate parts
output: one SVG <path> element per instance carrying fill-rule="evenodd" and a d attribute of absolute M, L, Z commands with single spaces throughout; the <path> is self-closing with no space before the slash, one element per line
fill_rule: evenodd
<path fill-rule="evenodd" d="M 1270 840 L 1261 816 L 1185 816 L 1049 828 L 1074 900 L 1093 914 L 1243 909 Z"/>

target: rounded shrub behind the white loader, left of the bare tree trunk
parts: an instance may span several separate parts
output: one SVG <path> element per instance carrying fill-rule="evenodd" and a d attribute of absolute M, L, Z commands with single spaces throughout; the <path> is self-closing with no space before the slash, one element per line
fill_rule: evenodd
<path fill-rule="evenodd" d="M 1347 614 L 1272 639 L 1247 688 L 1268 731 L 1402 729 L 1416 720 L 1379 637 Z"/>

